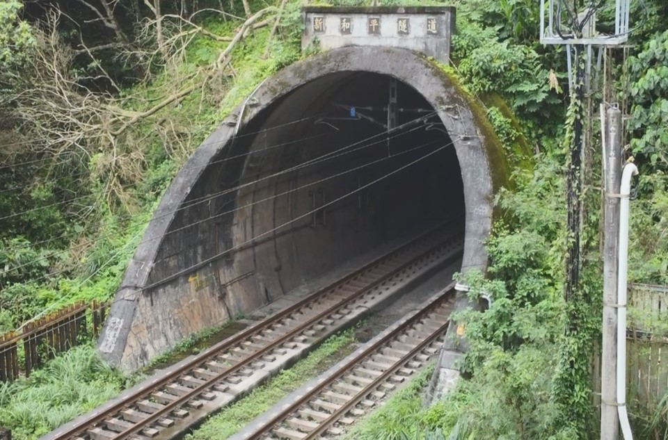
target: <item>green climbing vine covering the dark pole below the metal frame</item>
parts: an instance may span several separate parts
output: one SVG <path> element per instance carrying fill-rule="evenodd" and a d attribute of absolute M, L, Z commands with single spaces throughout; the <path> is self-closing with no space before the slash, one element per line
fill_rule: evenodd
<path fill-rule="evenodd" d="M 584 71 L 584 54 L 578 51 L 575 58 Z M 552 381 L 552 399 L 571 425 L 578 438 L 587 438 L 595 430 L 592 420 L 592 377 L 589 371 L 594 341 L 600 334 L 601 268 L 596 259 L 582 263 L 580 231 L 598 225 L 581 225 L 582 203 L 586 202 L 580 183 L 580 151 L 584 137 L 584 88 L 583 76 L 576 76 L 575 90 L 566 113 L 566 199 L 568 201 L 568 229 L 566 236 L 566 285 L 564 286 L 564 331 L 559 339 L 559 356 Z M 580 133 L 578 133 L 578 130 Z M 598 208 L 594 208 L 596 211 Z"/>

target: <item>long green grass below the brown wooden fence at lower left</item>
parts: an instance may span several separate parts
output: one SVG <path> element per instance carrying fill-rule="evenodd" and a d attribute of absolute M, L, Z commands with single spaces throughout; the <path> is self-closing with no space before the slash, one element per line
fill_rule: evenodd
<path fill-rule="evenodd" d="M 38 438 L 116 396 L 127 381 L 92 345 L 73 348 L 28 378 L 0 384 L 0 426 L 15 440 Z"/>

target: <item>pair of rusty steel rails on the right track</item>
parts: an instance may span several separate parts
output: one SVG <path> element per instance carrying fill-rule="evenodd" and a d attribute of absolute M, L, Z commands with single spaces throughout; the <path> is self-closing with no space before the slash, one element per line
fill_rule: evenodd
<path fill-rule="evenodd" d="M 433 309 L 436 309 L 436 307 L 440 306 L 441 302 L 443 300 L 446 300 L 450 296 L 450 294 L 454 291 L 454 284 L 455 283 L 453 282 L 450 285 L 448 285 L 446 288 L 443 289 L 442 295 L 440 295 L 436 300 L 427 305 L 427 307 L 424 307 L 422 311 L 416 313 L 414 316 L 412 316 L 404 323 L 399 325 L 399 327 L 397 327 L 395 330 L 383 336 L 381 339 L 379 339 L 379 341 L 376 341 L 376 343 L 369 346 L 369 348 L 367 348 L 359 355 L 351 359 L 351 361 L 349 361 L 345 366 L 343 366 L 339 371 L 337 371 L 337 373 L 335 373 L 331 377 L 328 377 L 328 379 L 324 380 L 323 382 L 317 384 L 317 386 L 315 386 L 312 390 L 308 391 L 308 393 L 305 393 L 304 396 L 296 400 L 289 407 L 283 409 L 276 416 L 271 418 L 271 420 L 267 421 L 264 425 L 262 425 L 262 427 L 260 427 L 259 430 L 257 430 L 247 438 L 248 439 L 262 438 L 264 434 L 267 434 L 271 430 L 273 430 L 278 423 L 282 423 L 292 413 L 296 412 L 299 408 L 303 407 L 313 398 L 319 396 L 319 394 L 325 391 L 328 388 L 328 386 L 331 386 L 331 384 L 333 384 L 337 380 L 340 380 L 344 375 L 348 374 L 349 371 L 352 370 L 353 368 L 358 367 L 358 365 L 362 361 L 365 361 L 367 357 L 374 355 L 374 353 L 376 353 L 379 349 L 381 349 L 383 345 L 385 345 L 385 343 L 388 343 L 392 339 L 397 338 L 397 336 L 401 336 L 401 334 L 405 332 L 406 329 L 410 328 L 417 321 L 424 318 L 424 316 L 427 315 L 429 312 L 433 311 Z M 447 330 L 447 326 L 449 325 L 449 323 L 450 320 L 446 320 L 445 323 L 443 323 L 443 325 L 440 325 L 440 327 L 436 329 L 436 331 L 431 332 L 431 334 L 429 334 L 429 336 L 427 336 L 427 338 L 425 338 L 424 341 L 418 343 L 415 346 L 415 348 L 413 348 L 413 350 L 411 350 L 406 355 L 401 357 L 399 361 L 395 362 L 395 364 L 393 364 L 390 368 L 388 368 L 383 373 L 381 373 L 381 375 L 372 380 L 372 382 L 367 384 L 367 386 L 365 386 L 355 396 L 351 396 L 351 400 L 342 404 L 342 406 L 339 409 L 336 409 L 335 412 L 333 412 L 324 421 L 319 422 L 319 426 L 315 428 L 315 430 L 305 433 L 305 437 L 303 440 L 314 439 L 318 435 L 322 434 L 332 423 L 335 423 L 335 421 L 344 416 L 355 405 L 364 400 L 369 395 L 369 393 L 372 393 L 372 391 L 378 388 L 383 382 L 385 382 L 385 380 L 388 379 L 388 377 L 390 377 L 393 373 L 399 370 L 399 368 L 402 368 L 404 364 L 406 364 L 408 361 L 411 361 L 413 357 L 418 355 L 427 345 L 431 344 L 434 341 L 434 339 L 440 336 L 440 334 L 443 334 L 443 332 Z"/>

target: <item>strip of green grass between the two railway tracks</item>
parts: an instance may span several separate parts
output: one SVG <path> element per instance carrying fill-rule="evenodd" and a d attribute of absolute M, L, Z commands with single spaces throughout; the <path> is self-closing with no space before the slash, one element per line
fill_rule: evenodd
<path fill-rule="evenodd" d="M 198 430 L 188 434 L 186 440 L 227 439 L 253 418 L 267 411 L 287 393 L 297 389 L 310 377 L 326 370 L 331 363 L 340 359 L 342 354 L 352 352 L 354 341 L 352 329 L 331 336 L 308 357 L 301 359 L 288 370 L 281 371 L 266 384 L 251 391 L 245 398 L 209 418 Z"/>

